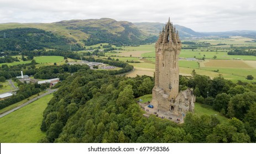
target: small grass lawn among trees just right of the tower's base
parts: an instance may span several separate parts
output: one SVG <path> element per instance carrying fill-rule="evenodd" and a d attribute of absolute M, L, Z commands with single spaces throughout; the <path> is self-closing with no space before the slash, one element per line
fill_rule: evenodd
<path fill-rule="evenodd" d="M 220 112 L 213 110 L 211 106 L 195 103 L 195 114 L 198 116 L 202 116 L 203 114 L 216 116 L 221 123 L 228 123 L 228 118 L 221 116 Z"/>

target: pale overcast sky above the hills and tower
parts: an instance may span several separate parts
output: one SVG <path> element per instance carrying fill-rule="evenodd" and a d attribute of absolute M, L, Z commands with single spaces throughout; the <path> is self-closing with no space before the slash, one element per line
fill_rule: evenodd
<path fill-rule="evenodd" d="M 195 31 L 256 30 L 255 0 L 0 0 L 0 23 L 71 19 L 165 23 Z"/>

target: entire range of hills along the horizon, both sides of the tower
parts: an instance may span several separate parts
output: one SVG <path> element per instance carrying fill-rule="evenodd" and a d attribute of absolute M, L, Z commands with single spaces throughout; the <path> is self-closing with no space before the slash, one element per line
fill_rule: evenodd
<path fill-rule="evenodd" d="M 65 37 L 67 45 L 80 45 L 81 47 L 97 43 L 111 43 L 118 46 L 140 45 L 155 42 L 164 26 L 163 23 L 131 23 L 110 18 L 64 20 L 55 23 L 6 23 L 0 24 L 0 38 L 3 38 L 1 30 L 35 28 L 51 32 L 56 36 Z M 185 26 L 174 26 L 179 31 L 181 40 L 188 37 L 205 36 L 256 38 L 256 31 L 196 32 Z"/>

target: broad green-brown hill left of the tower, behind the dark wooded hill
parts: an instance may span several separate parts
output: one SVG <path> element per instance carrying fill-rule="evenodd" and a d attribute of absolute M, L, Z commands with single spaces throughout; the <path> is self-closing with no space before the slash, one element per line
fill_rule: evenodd
<path fill-rule="evenodd" d="M 18 27 L 30 27 L 50 31 L 55 35 L 65 37 L 67 43 L 70 45 L 77 43 L 81 46 L 95 45 L 97 43 L 139 45 L 140 43 L 155 42 L 157 39 L 140 31 L 133 23 L 116 21 L 109 18 L 68 20 L 49 24 L 0 24 L 0 30 L 10 29 L 11 31 L 11 29 Z M 4 37 L 4 31 L 0 32 L 0 36 Z M 152 40 L 150 37 L 154 39 Z"/>

